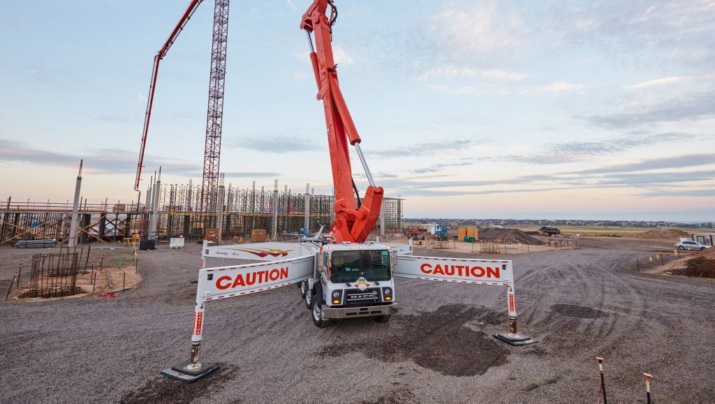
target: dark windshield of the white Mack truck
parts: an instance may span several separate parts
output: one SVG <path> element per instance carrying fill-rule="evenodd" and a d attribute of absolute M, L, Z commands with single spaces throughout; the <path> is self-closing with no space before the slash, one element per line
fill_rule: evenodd
<path fill-rule="evenodd" d="M 330 282 L 355 282 L 360 276 L 369 281 L 390 280 L 390 252 L 385 250 L 333 251 Z"/>

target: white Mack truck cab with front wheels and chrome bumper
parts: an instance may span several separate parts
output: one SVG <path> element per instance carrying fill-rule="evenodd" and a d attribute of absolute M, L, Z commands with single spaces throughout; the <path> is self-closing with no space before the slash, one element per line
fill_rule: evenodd
<path fill-rule="evenodd" d="M 300 282 L 313 323 L 326 327 L 333 319 L 390 320 L 390 315 L 397 313 L 393 278 L 397 254 L 378 242 L 323 245 L 313 276 Z"/>

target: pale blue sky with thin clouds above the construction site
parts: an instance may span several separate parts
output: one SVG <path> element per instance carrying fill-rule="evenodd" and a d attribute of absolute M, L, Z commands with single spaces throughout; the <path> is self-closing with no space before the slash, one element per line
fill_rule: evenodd
<path fill-rule="evenodd" d="M 408 217 L 715 220 L 715 1 L 335 1 L 342 92 Z M 308 0 L 230 11 L 222 171 L 330 192 Z M 129 201 L 152 58 L 188 1 L 0 14 L 0 197 Z M 162 61 L 146 178 L 200 178 L 213 2 Z M 358 186 L 365 185 L 353 164 Z"/>

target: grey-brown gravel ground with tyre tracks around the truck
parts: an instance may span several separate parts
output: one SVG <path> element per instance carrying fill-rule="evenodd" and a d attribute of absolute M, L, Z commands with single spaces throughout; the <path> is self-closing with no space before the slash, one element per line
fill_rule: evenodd
<path fill-rule="evenodd" d="M 715 282 L 633 272 L 638 252 L 600 248 L 502 256 L 536 345 L 491 337 L 508 329 L 501 287 L 400 278 L 390 322 L 319 330 L 289 286 L 208 302 L 202 360 L 222 368 L 167 380 L 159 371 L 189 355 L 199 249 L 141 252 L 143 282 L 117 298 L 0 301 L 0 401 L 589 402 L 594 356 L 613 402 L 645 400 L 641 372 L 654 400 L 715 395 Z M 0 290 L 34 253 L 0 249 Z"/>

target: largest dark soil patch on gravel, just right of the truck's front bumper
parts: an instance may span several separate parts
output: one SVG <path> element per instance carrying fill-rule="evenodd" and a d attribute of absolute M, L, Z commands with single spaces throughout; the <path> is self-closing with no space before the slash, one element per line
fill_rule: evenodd
<path fill-rule="evenodd" d="M 387 335 L 341 341 L 323 348 L 320 355 L 337 357 L 359 352 L 388 362 L 411 360 L 443 375 L 483 375 L 489 368 L 506 363 L 508 350 L 485 332 L 465 326 L 475 320 L 479 325 L 501 322 L 485 307 L 442 306 L 434 312 L 394 316 Z"/>

